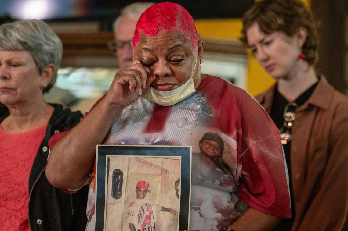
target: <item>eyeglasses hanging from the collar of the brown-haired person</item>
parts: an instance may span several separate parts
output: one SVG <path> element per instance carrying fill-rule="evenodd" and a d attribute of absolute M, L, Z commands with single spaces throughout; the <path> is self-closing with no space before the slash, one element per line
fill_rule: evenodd
<path fill-rule="evenodd" d="M 280 139 L 282 144 L 286 145 L 292 140 L 291 127 L 292 123 L 295 120 L 295 112 L 298 105 L 296 103 L 288 103 L 284 108 L 284 124 L 280 127 Z"/>

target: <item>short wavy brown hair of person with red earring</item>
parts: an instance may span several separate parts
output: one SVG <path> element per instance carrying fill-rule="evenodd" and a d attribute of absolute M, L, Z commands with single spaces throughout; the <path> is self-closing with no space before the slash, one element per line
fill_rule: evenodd
<path fill-rule="evenodd" d="M 302 46 L 302 53 L 309 65 L 314 65 L 318 58 L 317 28 L 311 12 L 300 0 L 262 0 L 255 2 L 243 17 L 242 36 L 239 40 L 248 45 L 246 31 L 254 23 L 258 23 L 262 32 L 270 34 L 282 31 L 293 36 L 299 27 L 306 28 L 308 35 Z"/>

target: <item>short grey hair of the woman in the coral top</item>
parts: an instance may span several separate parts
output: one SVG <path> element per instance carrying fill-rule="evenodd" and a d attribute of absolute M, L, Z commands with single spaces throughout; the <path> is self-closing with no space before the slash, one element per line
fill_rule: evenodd
<path fill-rule="evenodd" d="M 28 51 L 34 58 L 39 73 L 48 64 L 55 66 L 52 80 L 42 90 L 48 92 L 57 79 L 61 65 L 63 45 L 58 36 L 44 22 L 38 19 L 16 20 L 0 26 L 0 50 Z"/>

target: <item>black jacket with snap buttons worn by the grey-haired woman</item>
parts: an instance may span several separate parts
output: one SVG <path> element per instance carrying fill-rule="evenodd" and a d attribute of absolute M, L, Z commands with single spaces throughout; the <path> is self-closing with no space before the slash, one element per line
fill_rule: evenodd
<path fill-rule="evenodd" d="M 62 105 L 51 104 L 55 110 L 50 118 L 46 135 L 42 140 L 29 177 L 29 224 L 31 230 L 66 231 L 85 230 L 88 185 L 76 193 L 65 193 L 53 187 L 46 178 L 48 140 L 57 132 L 70 130 L 76 126 L 82 114 L 64 109 Z M 0 122 L 9 115 L 5 107 L 0 107 Z"/>

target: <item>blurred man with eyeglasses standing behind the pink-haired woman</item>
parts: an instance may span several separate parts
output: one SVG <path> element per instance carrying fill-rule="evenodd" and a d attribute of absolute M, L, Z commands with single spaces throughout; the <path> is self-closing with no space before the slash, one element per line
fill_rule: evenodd
<path fill-rule="evenodd" d="M 153 2 L 135 2 L 122 9 L 121 14 L 115 19 L 113 28 L 115 40 L 108 43 L 110 50 L 117 56 L 118 66 L 124 69 L 133 62 L 133 52 L 130 42 L 133 39 L 135 25 L 140 15 Z"/>

